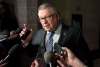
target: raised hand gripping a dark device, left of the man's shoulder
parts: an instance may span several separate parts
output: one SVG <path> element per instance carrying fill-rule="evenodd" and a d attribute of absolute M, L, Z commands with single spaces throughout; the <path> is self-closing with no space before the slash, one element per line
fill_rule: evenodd
<path fill-rule="evenodd" d="M 30 29 L 27 24 L 24 24 L 22 27 L 22 31 L 19 34 L 23 47 L 26 47 L 29 44 L 29 42 L 32 40 L 32 33 L 33 33 L 32 29 Z"/>

